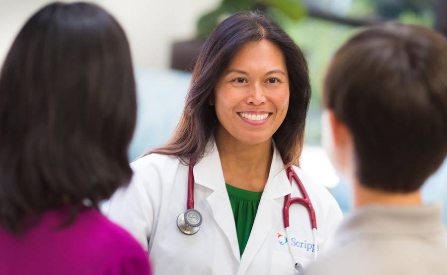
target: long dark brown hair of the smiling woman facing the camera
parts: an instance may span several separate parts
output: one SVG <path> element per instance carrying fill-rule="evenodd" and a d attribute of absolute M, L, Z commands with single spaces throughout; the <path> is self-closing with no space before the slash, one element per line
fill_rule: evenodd
<path fill-rule="evenodd" d="M 225 19 L 205 42 L 195 65 L 180 121 L 164 146 L 150 153 L 197 161 L 207 151 L 218 120 L 214 88 L 234 54 L 247 42 L 268 40 L 278 46 L 289 73 L 290 103 L 284 122 L 273 135 L 276 147 L 290 164 L 298 164 L 304 142 L 304 125 L 310 100 L 310 81 L 304 56 L 292 38 L 259 12 L 241 12 Z"/>

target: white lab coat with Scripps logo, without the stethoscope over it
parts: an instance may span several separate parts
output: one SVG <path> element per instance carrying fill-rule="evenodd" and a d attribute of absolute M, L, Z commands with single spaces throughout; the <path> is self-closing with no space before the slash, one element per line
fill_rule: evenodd
<path fill-rule="evenodd" d="M 215 145 L 194 167 L 194 208 L 203 216 L 201 228 L 194 235 L 185 235 L 177 227 L 177 216 L 186 210 L 188 166 L 173 156 L 151 154 L 132 163 L 132 167 L 131 184 L 118 190 L 104 211 L 149 251 L 155 275 L 295 274 L 294 262 L 284 244 L 282 210 L 284 196 L 291 192 L 292 197 L 301 194 L 295 181 L 291 188 L 276 148 L 242 257 Z M 294 169 L 315 209 L 321 253 L 340 223 L 342 212 L 322 185 L 313 182 L 300 168 Z M 289 241 L 305 268 L 313 259 L 306 208 L 291 206 L 290 226 Z"/>

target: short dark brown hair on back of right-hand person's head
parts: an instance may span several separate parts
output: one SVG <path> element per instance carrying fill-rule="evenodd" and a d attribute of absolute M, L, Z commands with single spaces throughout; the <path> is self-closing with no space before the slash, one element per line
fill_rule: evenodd
<path fill-rule="evenodd" d="M 361 185 L 418 190 L 447 154 L 446 38 L 399 23 L 358 33 L 333 57 L 323 101 L 352 134 Z"/>

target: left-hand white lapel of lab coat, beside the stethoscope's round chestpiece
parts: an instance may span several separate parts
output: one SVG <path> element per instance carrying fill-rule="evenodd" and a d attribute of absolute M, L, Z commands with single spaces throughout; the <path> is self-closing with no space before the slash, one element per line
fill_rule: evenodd
<path fill-rule="evenodd" d="M 234 257 L 237 261 L 240 261 L 236 225 L 225 187 L 221 159 L 214 142 L 212 146 L 210 152 L 194 166 L 195 183 L 213 190 L 207 197 L 213 211 L 213 217 L 228 239 Z"/>

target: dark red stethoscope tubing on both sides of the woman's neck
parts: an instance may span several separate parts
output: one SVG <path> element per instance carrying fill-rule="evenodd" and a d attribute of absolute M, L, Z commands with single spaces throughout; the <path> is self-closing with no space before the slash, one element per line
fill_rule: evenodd
<path fill-rule="evenodd" d="M 194 163 L 191 162 L 189 164 L 189 171 L 188 171 L 188 198 L 186 200 L 186 208 L 187 209 L 194 209 Z M 283 207 L 283 221 L 284 221 L 284 228 L 287 228 L 290 226 L 289 224 L 289 208 L 293 204 L 300 204 L 304 206 L 308 213 L 310 218 L 310 225 L 312 229 L 316 229 L 316 217 L 315 217 L 315 210 L 313 209 L 312 203 L 310 202 L 310 198 L 307 195 L 307 192 L 302 185 L 301 180 L 298 178 L 297 173 L 292 168 L 292 166 L 287 167 L 286 169 L 287 177 L 289 178 L 290 184 L 292 186 L 292 181 L 295 180 L 295 182 L 298 185 L 298 189 L 302 194 L 302 198 L 291 198 L 290 194 L 287 194 L 284 198 L 284 207 Z"/>

